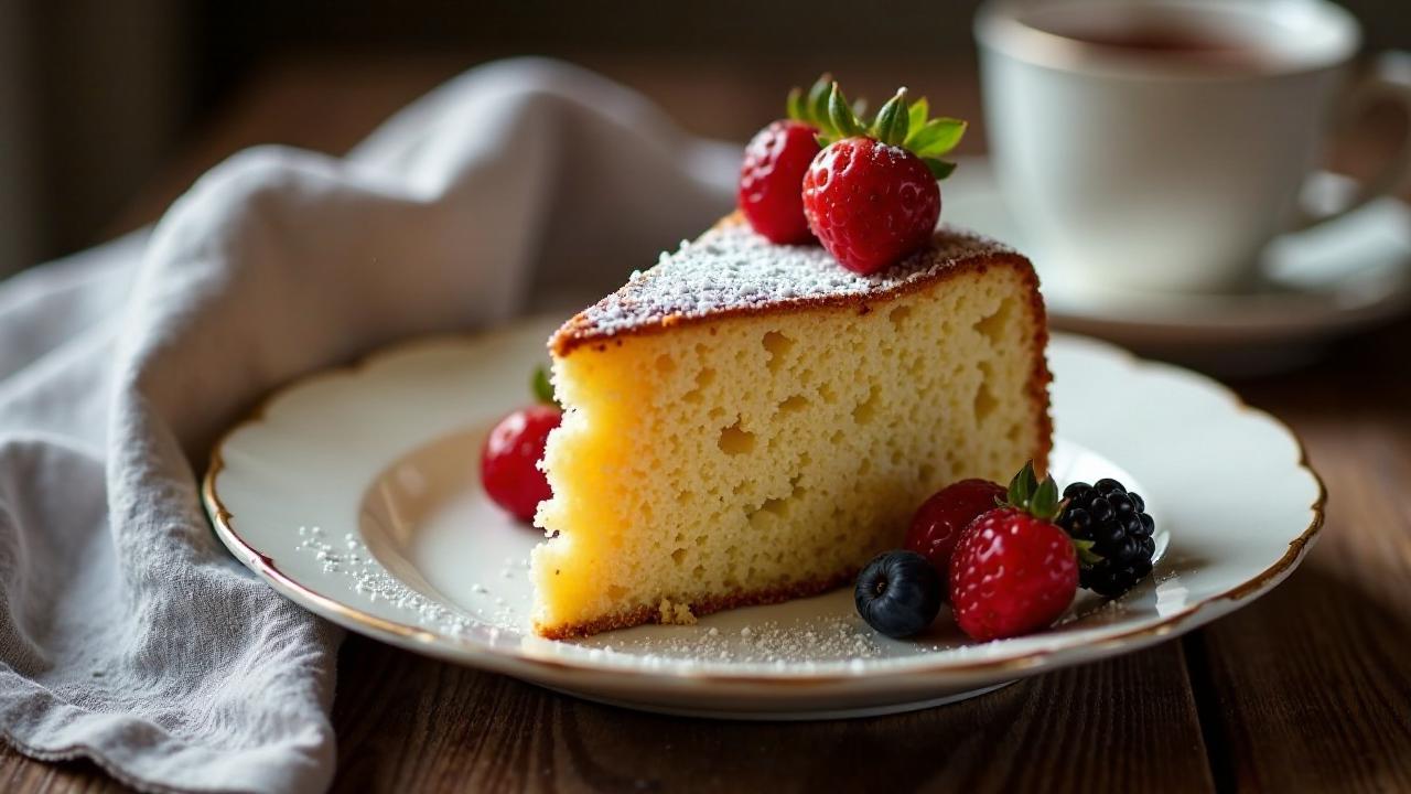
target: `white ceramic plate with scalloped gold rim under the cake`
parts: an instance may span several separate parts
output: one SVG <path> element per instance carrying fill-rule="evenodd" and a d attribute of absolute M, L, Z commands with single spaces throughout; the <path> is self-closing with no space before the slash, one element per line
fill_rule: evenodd
<path fill-rule="evenodd" d="M 944 617 L 919 640 L 882 637 L 848 589 L 542 640 L 525 578 L 538 534 L 487 503 L 477 465 L 555 325 L 416 342 L 277 394 L 216 448 L 216 531 L 289 599 L 418 653 L 634 708 L 809 719 L 921 708 L 1158 643 L 1273 588 L 1322 524 L 1322 485 L 1284 425 L 1202 376 L 1058 336 L 1051 469 L 1116 476 L 1157 519 L 1164 555 L 1125 598 L 1085 593 L 1058 627 L 985 644 Z"/>

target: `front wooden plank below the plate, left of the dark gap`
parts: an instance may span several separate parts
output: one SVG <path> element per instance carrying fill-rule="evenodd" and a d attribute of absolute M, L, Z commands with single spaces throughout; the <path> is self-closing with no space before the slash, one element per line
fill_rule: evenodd
<path fill-rule="evenodd" d="M 339 791 L 1211 788 L 1177 643 L 952 706 L 800 723 L 601 706 L 361 637 L 341 663 L 358 695 L 334 706 Z"/>

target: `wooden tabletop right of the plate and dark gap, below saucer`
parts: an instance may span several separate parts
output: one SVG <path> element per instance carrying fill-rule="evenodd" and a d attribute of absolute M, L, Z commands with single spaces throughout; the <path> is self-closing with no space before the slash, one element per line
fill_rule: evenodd
<path fill-rule="evenodd" d="M 1408 345 L 1403 322 L 1240 387 L 1302 437 L 1331 499 L 1302 568 L 1197 640 L 1223 786 L 1411 791 Z"/>

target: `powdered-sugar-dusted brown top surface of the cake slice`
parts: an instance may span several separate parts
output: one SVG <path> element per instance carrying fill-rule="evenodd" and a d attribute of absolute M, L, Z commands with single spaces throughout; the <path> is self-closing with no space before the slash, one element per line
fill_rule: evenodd
<path fill-rule="evenodd" d="M 634 273 L 622 288 L 586 309 L 563 332 L 612 336 L 667 318 L 876 295 L 995 253 L 1013 250 L 943 226 L 927 250 L 880 273 L 859 275 L 820 246 L 777 246 L 745 223 L 727 222 L 696 242 L 683 242 L 676 253 L 663 253 L 652 270 Z"/>

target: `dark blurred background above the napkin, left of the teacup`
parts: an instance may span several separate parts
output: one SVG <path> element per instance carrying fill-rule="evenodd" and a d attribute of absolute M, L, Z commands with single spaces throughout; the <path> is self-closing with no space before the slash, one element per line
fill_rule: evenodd
<path fill-rule="evenodd" d="M 782 93 L 832 69 L 871 96 L 954 86 L 955 72 L 974 73 L 976 4 L 0 0 L 0 274 L 123 230 L 134 191 L 220 123 L 241 86 L 291 62 L 415 58 L 450 76 L 555 55 L 639 88 L 691 131 L 742 140 L 777 112 L 773 93 L 732 102 L 742 82 Z M 1411 45 L 1408 0 L 1345 4 L 1367 51 Z M 972 138 L 968 148 L 982 146 Z"/>

